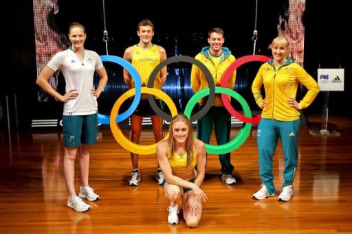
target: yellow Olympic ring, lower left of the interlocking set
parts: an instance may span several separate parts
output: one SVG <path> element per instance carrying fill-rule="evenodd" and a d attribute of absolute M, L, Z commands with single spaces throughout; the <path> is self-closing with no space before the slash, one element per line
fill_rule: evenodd
<path fill-rule="evenodd" d="M 142 87 L 142 93 L 148 93 L 148 94 L 153 94 L 159 98 L 161 98 L 168 108 L 171 111 L 171 115 L 175 116 L 177 115 L 177 108 L 175 106 L 175 103 L 169 97 L 166 93 L 159 89 L 153 89 L 153 88 L 146 88 Z M 122 94 L 118 100 L 116 100 L 115 104 L 113 104 L 113 108 L 111 109 L 111 114 L 110 114 L 110 128 L 111 132 L 113 132 L 113 137 L 115 137 L 115 140 L 120 143 L 120 145 L 125 148 L 126 150 L 129 150 L 130 152 L 133 152 L 135 154 L 155 154 L 156 152 L 156 147 L 157 143 L 153 145 L 137 145 L 136 143 L 131 142 L 129 139 L 127 139 L 124 134 L 122 133 L 120 126 L 116 123 L 116 116 L 118 115 L 118 110 L 120 109 L 120 106 L 122 103 L 124 103 L 127 98 L 135 95 L 135 89 L 130 89 L 126 93 Z M 165 139 L 168 138 L 168 134 L 162 139 L 164 141 Z"/>

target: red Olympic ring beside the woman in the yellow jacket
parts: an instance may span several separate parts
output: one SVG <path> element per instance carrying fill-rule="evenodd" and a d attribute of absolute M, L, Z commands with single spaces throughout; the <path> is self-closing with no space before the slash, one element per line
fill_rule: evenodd
<path fill-rule="evenodd" d="M 267 56 L 260 56 L 260 55 L 243 56 L 243 57 L 235 60 L 228 67 L 228 69 L 226 69 L 225 73 L 223 73 L 223 76 L 221 77 L 221 80 L 220 80 L 221 87 L 225 88 L 227 86 L 228 80 L 230 80 L 230 77 L 231 77 L 234 69 L 240 67 L 241 65 L 243 65 L 247 62 L 254 62 L 254 61 L 267 62 L 267 60 L 270 60 L 270 58 Z M 236 117 L 240 121 L 243 121 L 246 123 L 259 124 L 259 121 L 261 119 L 261 115 L 256 115 L 256 117 L 253 117 L 253 118 L 245 117 L 245 115 L 241 115 L 236 110 L 234 110 L 234 108 L 231 106 L 230 100 L 228 100 L 228 97 L 223 93 L 221 94 L 221 100 L 223 102 L 223 106 L 225 106 L 226 110 L 228 110 L 228 112 L 233 117 Z M 252 117 L 252 116 L 250 116 L 250 117 Z"/>

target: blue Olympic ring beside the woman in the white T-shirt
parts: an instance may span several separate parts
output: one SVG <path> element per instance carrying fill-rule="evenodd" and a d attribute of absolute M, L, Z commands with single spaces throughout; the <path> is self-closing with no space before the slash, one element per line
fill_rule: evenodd
<path fill-rule="evenodd" d="M 118 115 L 118 117 L 116 117 L 116 119 L 115 119 L 116 123 L 120 123 L 120 121 L 123 121 L 124 119 L 127 119 L 130 115 L 132 115 L 133 111 L 135 111 L 135 109 L 137 108 L 138 103 L 140 103 L 140 97 L 142 95 L 141 94 L 142 82 L 140 79 L 140 74 L 131 65 L 131 63 L 129 63 L 127 60 L 124 60 L 123 58 L 120 58 L 118 56 L 109 56 L 109 55 L 100 56 L 100 58 L 102 59 L 102 62 L 115 62 L 118 65 L 121 65 L 122 67 L 124 67 L 124 69 L 129 71 L 129 73 L 131 74 L 131 77 L 133 78 L 133 81 L 135 82 L 135 97 L 133 98 L 133 102 L 132 102 L 131 106 L 124 113 Z M 111 119 L 111 117 L 109 117 L 107 115 L 100 115 L 98 113 L 98 122 L 99 123 L 109 124 L 110 119 Z"/>

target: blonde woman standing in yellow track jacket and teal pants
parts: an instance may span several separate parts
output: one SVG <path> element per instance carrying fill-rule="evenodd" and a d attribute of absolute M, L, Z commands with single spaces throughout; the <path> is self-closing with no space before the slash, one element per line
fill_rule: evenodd
<path fill-rule="evenodd" d="M 284 183 L 278 200 L 289 201 L 293 195 L 292 183 L 298 161 L 299 110 L 307 108 L 314 101 L 319 93 L 319 86 L 303 67 L 287 59 L 289 52 L 287 38 L 283 36 L 274 38 L 270 48 L 273 59 L 261 66 L 252 84 L 256 104 L 263 109 L 257 132 L 259 174 L 263 185 L 253 194 L 253 198 L 262 200 L 275 195 L 272 158 L 280 138 L 283 144 L 285 169 Z M 308 89 L 300 102 L 296 101 L 298 83 Z M 263 84 L 265 97 L 261 93 Z"/>

